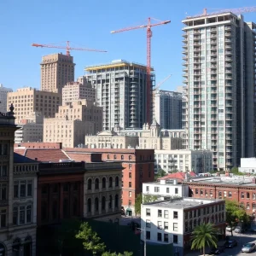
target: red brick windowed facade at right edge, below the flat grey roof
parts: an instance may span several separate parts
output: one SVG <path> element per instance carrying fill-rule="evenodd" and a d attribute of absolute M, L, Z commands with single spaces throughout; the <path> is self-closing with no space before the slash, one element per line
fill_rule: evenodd
<path fill-rule="evenodd" d="M 245 207 L 247 213 L 254 215 L 256 213 L 256 183 L 235 183 L 235 182 L 215 182 L 210 181 L 192 181 L 183 182 L 188 184 L 193 191 L 195 198 L 216 198 L 236 200 Z"/>

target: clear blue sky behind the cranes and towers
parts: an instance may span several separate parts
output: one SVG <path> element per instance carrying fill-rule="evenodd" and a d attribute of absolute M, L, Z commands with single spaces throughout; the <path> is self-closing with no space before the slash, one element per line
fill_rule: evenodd
<path fill-rule="evenodd" d="M 256 5 L 253 0 L 8 0 L 0 1 L 0 83 L 13 90 L 23 86 L 40 87 L 40 61 L 58 49 L 35 48 L 32 43 L 64 44 L 105 49 L 108 53 L 73 51 L 75 78 L 84 67 L 123 59 L 146 64 L 146 30 L 111 34 L 110 31 L 147 22 L 148 17 L 172 20 L 153 28 L 151 63 L 156 83 L 165 79 L 162 90 L 182 84 L 182 28 L 186 15 L 202 9 L 231 9 Z M 256 22 L 256 12 L 245 14 Z M 63 50 L 62 52 L 65 52 Z"/>

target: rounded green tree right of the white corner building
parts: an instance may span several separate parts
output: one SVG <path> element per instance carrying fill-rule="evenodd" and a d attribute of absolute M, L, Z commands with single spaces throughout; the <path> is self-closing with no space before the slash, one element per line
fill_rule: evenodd
<path fill-rule="evenodd" d="M 233 236 L 232 227 L 235 227 L 238 222 L 243 222 L 247 224 L 248 216 L 243 205 L 239 204 L 237 201 L 225 201 L 226 206 L 226 223 L 231 227 L 231 235 Z"/>

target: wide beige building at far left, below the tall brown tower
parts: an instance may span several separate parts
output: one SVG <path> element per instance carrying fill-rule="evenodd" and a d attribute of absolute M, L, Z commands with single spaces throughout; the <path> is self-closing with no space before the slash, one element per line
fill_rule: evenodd
<path fill-rule="evenodd" d="M 20 88 L 8 93 L 8 104 L 11 103 L 15 105 L 15 123 L 22 124 L 22 119 L 35 112 L 44 117 L 55 117 L 61 105 L 61 94 L 31 87 Z"/>

